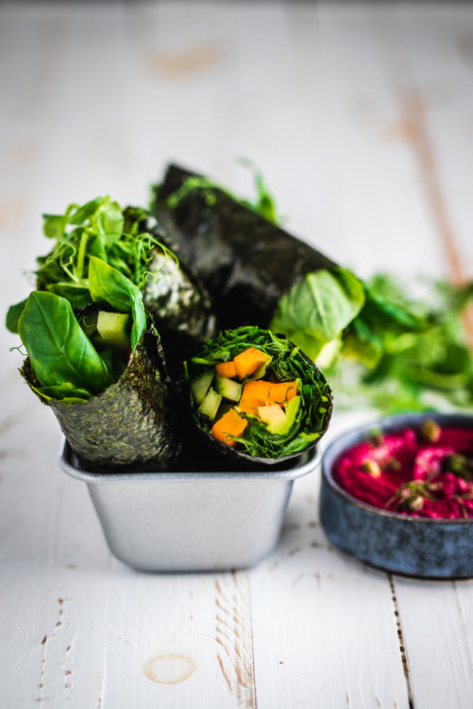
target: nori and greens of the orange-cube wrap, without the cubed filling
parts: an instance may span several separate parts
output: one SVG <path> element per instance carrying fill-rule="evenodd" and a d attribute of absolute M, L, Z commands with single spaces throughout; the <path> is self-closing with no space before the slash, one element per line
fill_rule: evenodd
<path fill-rule="evenodd" d="M 231 362 L 235 355 L 255 347 L 272 357 L 265 373 L 257 377 L 263 381 L 300 382 L 300 404 L 290 430 L 283 435 L 269 434 L 266 426 L 257 422 L 255 416 L 247 416 L 238 409 L 238 401 L 221 398 L 215 418 L 199 412 L 192 396 L 192 382 L 210 372 L 219 362 Z M 251 379 L 251 377 L 250 377 Z M 267 466 L 286 469 L 299 462 L 301 455 L 318 445 L 330 422 L 333 399 L 330 387 L 316 364 L 299 347 L 283 336 L 255 326 L 244 326 L 218 333 L 213 340 L 206 340 L 187 362 L 188 400 L 191 418 L 194 420 L 193 438 L 188 445 L 194 446 L 194 458 L 208 470 L 257 470 Z M 243 383 L 247 381 L 246 378 Z M 216 379 L 208 386 L 213 389 Z M 201 406 L 199 406 L 201 408 Z M 238 438 L 235 447 L 212 435 L 213 424 L 228 408 L 247 418 L 247 428 Z"/>

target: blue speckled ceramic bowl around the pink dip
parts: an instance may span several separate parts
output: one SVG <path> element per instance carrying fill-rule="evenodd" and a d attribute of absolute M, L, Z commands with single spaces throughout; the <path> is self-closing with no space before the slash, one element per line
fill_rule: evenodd
<path fill-rule="evenodd" d="M 473 519 L 438 520 L 381 510 L 346 493 L 332 477 L 340 453 L 366 440 L 373 428 L 391 432 L 417 427 L 425 418 L 444 427 L 473 428 L 473 415 L 415 413 L 344 433 L 323 456 L 321 523 L 334 545 L 386 571 L 438 579 L 473 576 Z"/>

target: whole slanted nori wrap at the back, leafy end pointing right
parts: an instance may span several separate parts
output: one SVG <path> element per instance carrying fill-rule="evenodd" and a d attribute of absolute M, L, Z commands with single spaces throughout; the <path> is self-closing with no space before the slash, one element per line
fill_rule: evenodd
<path fill-rule="evenodd" d="M 346 357 L 383 377 L 391 340 L 421 333 L 425 318 L 273 223 L 257 177 L 256 205 L 176 165 L 153 189 L 151 210 L 203 279 L 218 328 L 259 325 L 285 333 L 331 374 Z"/>

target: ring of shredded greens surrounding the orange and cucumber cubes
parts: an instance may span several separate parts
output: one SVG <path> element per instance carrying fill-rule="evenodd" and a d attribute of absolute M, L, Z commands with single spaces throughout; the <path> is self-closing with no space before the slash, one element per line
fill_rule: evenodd
<path fill-rule="evenodd" d="M 243 452 L 254 457 L 280 458 L 306 450 L 325 432 L 330 419 L 332 398 L 321 372 L 289 340 L 277 337 L 269 330 L 252 326 L 225 330 L 214 340 L 205 340 L 196 357 L 187 363 L 185 370 L 188 381 L 204 372 L 209 364 L 228 362 L 248 347 L 255 347 L 272 357 L 265 379 L 274 377 L 276 381 L 301 381 L 301 406 L 286 435 L 270 433 L 265 423 L 248 415 L 245 437 L 235 437 L 235 440 L 240 442 Z M 194 416 L 199 428 L 210 435 L 208 418 L 195 411 Z"/>

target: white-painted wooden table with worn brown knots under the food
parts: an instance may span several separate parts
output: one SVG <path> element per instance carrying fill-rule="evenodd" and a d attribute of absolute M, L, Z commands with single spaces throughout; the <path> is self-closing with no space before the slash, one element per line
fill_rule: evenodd
<path fill-rule="evenodd" d="M 249 194 L 235 157 L 251 157 L 288 228 L 362 276 L 472 276 L 468 4 L 4 3 L 0 76 L 2 312 L 48 250 L 42 212 L 144 203 L 169 160 Z M 473 581 L 338 552 L 318 473 L 255 569 L 113 559 L 3 343 L 2 709 L 473 706 Z M 328 440 L 361 408 L 335 411 Z"/>

